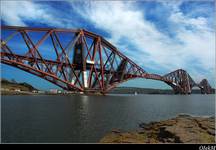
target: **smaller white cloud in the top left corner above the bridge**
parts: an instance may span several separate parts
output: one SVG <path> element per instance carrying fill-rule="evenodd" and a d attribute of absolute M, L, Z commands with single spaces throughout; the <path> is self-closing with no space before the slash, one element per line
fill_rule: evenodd
<path fill-rule="evenodd" d="M 32 1 L 1 1 L 1 17 L 7 25 L 27 26 L 26 21 L 37 21 L 51 26 L 61 26 L 62 22 L 52 14 L 47 5 Z"/>

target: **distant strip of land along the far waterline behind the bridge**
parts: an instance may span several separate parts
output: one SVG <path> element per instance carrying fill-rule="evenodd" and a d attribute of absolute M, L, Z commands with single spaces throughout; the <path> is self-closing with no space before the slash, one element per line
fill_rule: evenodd
<path fill-rule="evenodd" d="M 101 93 L 83 93 L 76 91 L 64 91 L 58 89 L 52 89 L 53 91 L 40 91 L 34 88 L 28 83 L 17 83 L 14 81 L 8 81 L 1 79 L 1 95 L 103 95 Z M 174 95 L 172 89 L 152 89 L 152 88 L 137 88 L 137 87 L 116 87 L 112 89 L 109 94 L 161 94 L 161 95 Z M 201 94 L 199 89 L 193 89 L 192 94 Z M 212 94 L 215 94 L 215 89 L 212 89 Z M 105 94 L 106 95 L 106 94 Z"/>

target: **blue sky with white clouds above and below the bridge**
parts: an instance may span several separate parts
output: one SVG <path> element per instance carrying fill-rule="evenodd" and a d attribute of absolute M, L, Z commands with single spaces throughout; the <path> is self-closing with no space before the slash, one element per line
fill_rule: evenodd
<path fill-rule="evenodd" d="M 102 35 L 147 72 L 178 68 L 196 82 L 215 80 L 214 1 L 1 1 L 1 24 L 85 28 Z M 2 77 L 55 88 L 43 79 L 1 66 Z M 168 88 L 164 83 L 132 80 L 125 86 Z"/>

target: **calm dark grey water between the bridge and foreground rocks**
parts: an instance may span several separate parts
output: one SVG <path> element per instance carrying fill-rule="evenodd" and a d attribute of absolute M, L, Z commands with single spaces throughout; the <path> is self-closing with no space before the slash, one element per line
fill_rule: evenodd
<path fill-rule="evenodd" d="M 2 142 L 98 142 L 140 122 L 215 114 L 214 95 L 2 96 Z"/>

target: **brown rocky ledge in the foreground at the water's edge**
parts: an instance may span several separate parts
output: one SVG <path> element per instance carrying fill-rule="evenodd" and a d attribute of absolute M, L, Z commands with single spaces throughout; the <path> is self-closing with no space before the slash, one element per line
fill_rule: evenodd
<path fill-rule="evenodd" d="M 101 143 L 215 143 L 215 118 L 179 115 L 176 118 L 140 124 L 133 132 L 113 130 Z"/>

